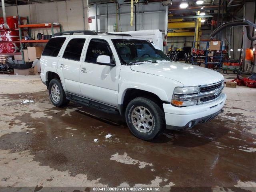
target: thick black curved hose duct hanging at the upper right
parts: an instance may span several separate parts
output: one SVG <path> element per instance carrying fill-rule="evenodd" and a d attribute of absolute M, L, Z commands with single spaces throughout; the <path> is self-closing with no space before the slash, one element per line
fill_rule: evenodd
<path fill-rule="evenodd" d="M 218 32 L 220 32 L 221 30 L 223 30 L 226 27 L 232 27 L 232 26 L 245 26 L 246 27 L 246 34 L 249 40 L 251 41 L 256 41 L 256 37 L 252 36 L 252 32 L 250 29 L 250 25 L 253 25 L 256 28 L 256 24 L 250 22 L 249 20 L 244 20 L 244 21 L 232 21 L 232 22 L 228 22 L 228 23 L 224 23 L 221 26 L 219 26 L 218 28 L 216 28 L 216 30 L 214 30 L 213 32 L 211 32 L 210 34 L 210 38 L 213 39 L 214 36 L 216 34 L 218 34 Z"/>

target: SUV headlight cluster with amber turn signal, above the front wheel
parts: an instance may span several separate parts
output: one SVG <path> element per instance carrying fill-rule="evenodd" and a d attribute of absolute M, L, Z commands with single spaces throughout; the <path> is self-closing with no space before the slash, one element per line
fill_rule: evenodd
<path fill-rule="evenodd" d="M 174 106 L 177 107 L 185 107 L 185 106 L 191 106 L 196 105 L 198 103 L 197 99 L 191 100 L 191 99 L 182 99 L 181 96 L 184 95 L 191 95 L 191 94 L 198 94 L 199 93 L 199 87 L 193 86 L 193 87 L 176 87 L 174 89 L 173 95 L 172 95 L 172 101 L 171 103 Z"/>

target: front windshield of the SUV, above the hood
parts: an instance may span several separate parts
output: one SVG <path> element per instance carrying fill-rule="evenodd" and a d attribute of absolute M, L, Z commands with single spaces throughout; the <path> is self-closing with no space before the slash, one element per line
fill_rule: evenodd
<path fill-rule="evenodd" d="M 132 65 L 146 62 L 158 62 L 170 59 L 156 46 L 147 40 L 112 39 L 122 64 Z"/>

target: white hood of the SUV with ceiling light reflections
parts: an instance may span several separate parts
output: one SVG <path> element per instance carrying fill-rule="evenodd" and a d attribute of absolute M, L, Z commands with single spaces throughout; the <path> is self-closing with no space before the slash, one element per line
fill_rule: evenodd
<path fill-rule="evenodd" d="M 133 71 L 176 80 L 184 86 L 212 84 L 224 79 L 222 74 L 214 70 L 180 62 L 143 62 L 130 67 Z"/>

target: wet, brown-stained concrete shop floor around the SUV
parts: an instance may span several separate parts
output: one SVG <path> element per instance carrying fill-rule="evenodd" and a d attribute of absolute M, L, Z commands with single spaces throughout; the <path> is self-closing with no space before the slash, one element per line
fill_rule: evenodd
<path fill-rule="evenodd" d="M 38 75 L 0 74 L 0 186 L 256 191 L 256 89 L 224 92 L 224 112 L 214 120 L 146 142 L 118 115 L 54 107 Z M 34 102 L 20 103 L 26 99 Z"/>

